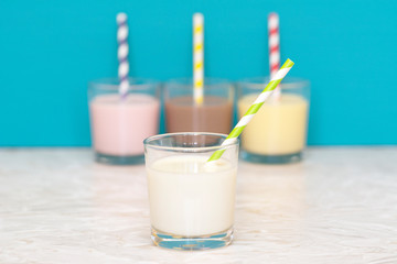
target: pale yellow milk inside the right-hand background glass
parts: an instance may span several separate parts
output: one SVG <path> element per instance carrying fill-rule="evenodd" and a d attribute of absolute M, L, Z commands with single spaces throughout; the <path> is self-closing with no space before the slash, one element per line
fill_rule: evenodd
<path fill-rule="evenodd" d="M 243 117 L 257 95 L 238 101 Z M 242 134 L 245 151 L 262 155 L 293 154 L 303 150 L 307 138 L 308 101 L 297 95 L 282 95 L 280 101 L 266 101 Z"/>

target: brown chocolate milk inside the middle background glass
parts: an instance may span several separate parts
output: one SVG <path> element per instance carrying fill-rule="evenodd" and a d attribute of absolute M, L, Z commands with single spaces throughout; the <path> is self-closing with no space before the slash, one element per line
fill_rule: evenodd
<path fill-rule="evenodd" d="M 204 97 L 197 106 L 192 97 L 174 97 L 165 101 L 167 131 L 213 132 L 228 134 L 233 121 L 232 100 L 217 96 Z"/>

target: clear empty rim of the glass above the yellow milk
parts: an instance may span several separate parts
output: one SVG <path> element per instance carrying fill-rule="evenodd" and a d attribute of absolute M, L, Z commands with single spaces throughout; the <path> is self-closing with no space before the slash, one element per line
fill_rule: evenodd
<path fill-rule="evenodd" d="M 258 89 L 262 90 L 264 85 L 267 85 L 270 81 L 269 76 L 257 76 L 257 77 L 250 77 L 250 78 L 244 78 L 240 80 L 237 80 L 237 86 L 245 86 L 251 89 Z M 300 89 L 305 88 L 310 86 L 310 80 L 301 78 L 301 77 L 286 77 L 280 82 L 281 88 L 283 89 Z"/>

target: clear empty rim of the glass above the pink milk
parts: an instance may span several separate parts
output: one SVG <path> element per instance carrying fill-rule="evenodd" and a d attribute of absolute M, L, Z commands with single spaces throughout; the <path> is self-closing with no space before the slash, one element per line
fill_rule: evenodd
<path fill-rule="evenodd" d="M 150 78 L 133 78 L 128 77 L 129 88 L 131 89 L 150 89 L 153 86 L 159 86 L 160 81 Z M 119 78 L 118 77 L 105 77 L 99 79 L 94 79 L 88 81 L 88 87 L 100 90 L 118 90 L 119 89 Z"/>

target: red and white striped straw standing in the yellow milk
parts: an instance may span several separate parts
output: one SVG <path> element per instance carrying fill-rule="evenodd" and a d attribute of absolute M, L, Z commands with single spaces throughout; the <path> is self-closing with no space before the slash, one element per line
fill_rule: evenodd
<path fill-rule="evenodd" d="M 268 16 L 268 31 L 269 31 L 269 66 L 270 78 L 272 78 L 277 70 L 280 68 L 280 31 L 279 31 L 279 16 L 277 13 L 270 13 Z M 276 87 L 271 96 L 276 100 L 280 100 L 280 87 Z"/>

